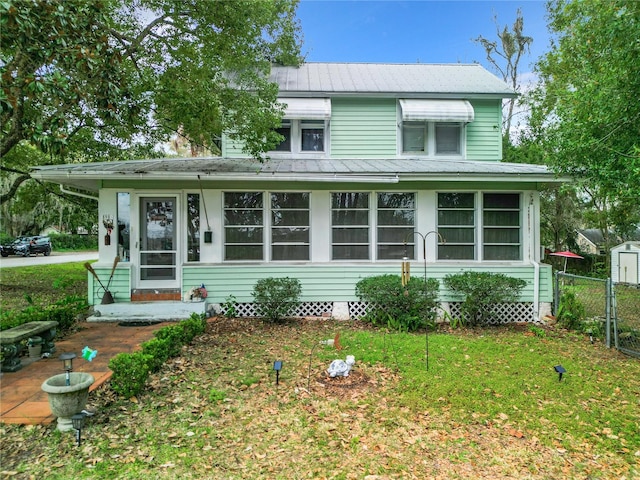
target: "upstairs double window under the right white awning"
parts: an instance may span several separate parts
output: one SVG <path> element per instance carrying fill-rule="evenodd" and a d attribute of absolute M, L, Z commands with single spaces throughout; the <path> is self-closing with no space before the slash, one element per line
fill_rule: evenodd
<path fill-rule="evenodd" d="M 400 100 L 402 153 L 462 155 L 464 125 L 474 111 L 466 100 Z"/>

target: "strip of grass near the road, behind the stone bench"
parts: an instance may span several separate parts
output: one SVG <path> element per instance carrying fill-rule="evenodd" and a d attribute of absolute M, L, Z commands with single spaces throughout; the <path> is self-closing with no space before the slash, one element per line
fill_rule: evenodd
<path fill-rule="evenodd" d="M 48 305 L 68 295 L 87 295 L 83 262 L 3 268 L 0 274 L 2 311 Z"/>

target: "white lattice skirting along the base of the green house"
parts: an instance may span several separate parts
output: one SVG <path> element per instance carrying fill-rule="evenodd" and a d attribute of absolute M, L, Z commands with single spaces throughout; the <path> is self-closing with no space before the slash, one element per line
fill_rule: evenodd
<path fill-rule="evenodd" d="M 364 317 L 370 307 L 365 302 L 348 302 L 349 318 L 354 320 Z M 460 302 L 443 304 L 448 307 L 453 318 L 460 318 Z M 238 317 L 258 317 L 255 303 L 236 303 L 234 305 Z M 225 305 L 220 306 L 222 315 L 227 314 Z M 333 316 L 334 302 L 303 302 L 292 313 L 291 317 L 329 317 Z M 491 325 L 501 325 L 513 322 L 537 322 L 533 318 L 533 303 L 500 303 L 493 306 Z"/>

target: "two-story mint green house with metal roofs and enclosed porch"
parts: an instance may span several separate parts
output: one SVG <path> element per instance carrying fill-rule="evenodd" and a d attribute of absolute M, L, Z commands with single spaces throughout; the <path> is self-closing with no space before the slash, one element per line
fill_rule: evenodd
<path fill-rule="evenodd" d="M 514 96 L 504 82 L 475 64 L 307 63 L 274 67 L 272 79 L 285 140 L 265 163 L 224 138 L 216 158 L 36 169 L 99 195 L 94 269 L 105 283 L 120 255 L 116 302 L 180 301 L 204 284 L 209 304 L 233 295 L 252 315 L 255 282 L 288 276 L 302 284 L 298 314 L 353 318 L 356 283 L 399 275 L 406 255 L 414 275 L 426 260 L 438 280 L 466 270 L 525 279 L 507 320 L 549 312 L 538 192 L 560 180 L 500 162 L 502 100 Z M 457 300 L 442 282 L 441 300 Z"/>

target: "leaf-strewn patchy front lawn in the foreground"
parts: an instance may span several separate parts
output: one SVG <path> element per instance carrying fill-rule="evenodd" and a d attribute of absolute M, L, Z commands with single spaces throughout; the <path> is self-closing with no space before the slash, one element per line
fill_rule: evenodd
<path fill-rule="evenodd" d="M 340 332 L 342 350 L 320 345 Z M 561 330 L 213 320 L 84 443 L 2 426 L 14 478 L 636 478 L 640 362 Z M 355 355 L 347 378 L 331 360 Z M 282 360 L 279 384 L 274 360 Z M 553 366 L 562 364 L 562 381 Z"/>

